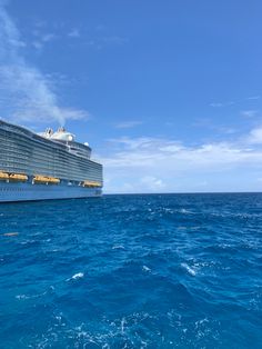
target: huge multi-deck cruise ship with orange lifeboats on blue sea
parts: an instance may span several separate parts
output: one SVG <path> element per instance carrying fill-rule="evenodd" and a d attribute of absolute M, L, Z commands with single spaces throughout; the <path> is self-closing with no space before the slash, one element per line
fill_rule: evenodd
<path fill-rule="evenodd" d="M 34 133 L 0 120 L 0 202 L 100 197 L 102 172 L 64 128 Z"/>

